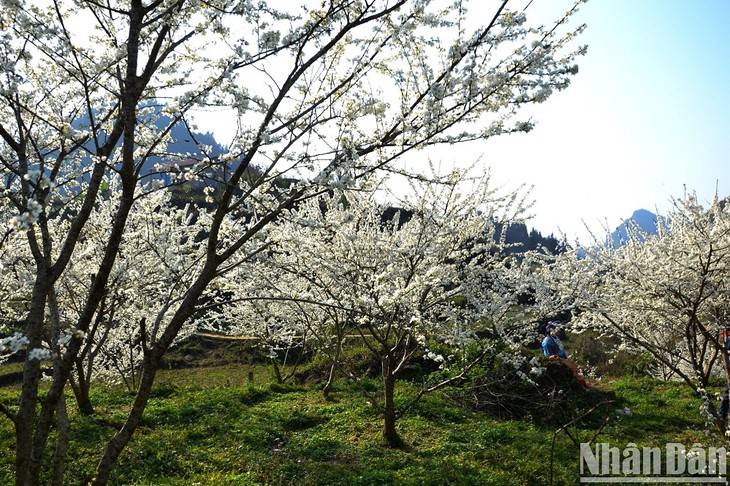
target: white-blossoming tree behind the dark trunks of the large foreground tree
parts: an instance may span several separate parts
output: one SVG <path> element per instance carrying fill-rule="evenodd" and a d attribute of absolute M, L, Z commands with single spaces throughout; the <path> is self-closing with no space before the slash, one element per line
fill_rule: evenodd
<path fill-rule="evenodd" d="M 79 319 L 79 300 L 88 293 L 89 269 L 97 268 L 108 238 L 108 221 L 119 196 L 110 181 L 108 196 L 99 201 L 82 233 L 79 250 L 57 285 L 65 323 Z M 199 270 L 204 257 L 200 243 L 205 226 L 190 206 L 178 208 L 171 194 L 156 191 L 139 197 L 130 211 L 119 255 L 83 347 L 76 356 L 71 385 L 82 412 L 91 413 L 89 389 L 93 379 L 137 386 L 144 350 L 159 337 L 165 315 L 175 306 Z M 177 335 L 193 331 L 187 323 Z"/>

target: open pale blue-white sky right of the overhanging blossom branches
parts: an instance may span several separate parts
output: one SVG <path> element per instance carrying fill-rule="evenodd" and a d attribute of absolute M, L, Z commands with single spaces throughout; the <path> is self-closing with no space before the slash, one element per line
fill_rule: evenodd
<path fill-rule="evenodd" d="M 571 2 L 535 0 L 528 21 L 538 4 L 554 17 Z M 528 226 L 584 240 L 582 221 L 602 233 L 666 212 L 685 187 L 730 196 L 730 1 L 589 0 L 577 19 L 589 47 L 572 85 L 531 133 L 483 151 L 496 181 L 534 185 Z"/>

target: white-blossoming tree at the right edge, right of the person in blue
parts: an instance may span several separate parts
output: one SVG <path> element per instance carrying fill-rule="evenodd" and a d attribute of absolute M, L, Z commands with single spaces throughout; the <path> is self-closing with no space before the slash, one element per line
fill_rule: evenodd
<path fill-rule="evenodd" d="M 624 246 L 609 242 L 585 258 L 566 253 L 548 275 L 576 309 L 577 329 L 649 353 L 663 376 L 707 399 L 712 374 L 727 371 L 721 331 L 730 317 L 730 213 L 717 199 L 705 208 L 688 195 L 664 221 L 655 236 L 629 226 Z M 706 406 L 714 423 L 714 404 Z"/>

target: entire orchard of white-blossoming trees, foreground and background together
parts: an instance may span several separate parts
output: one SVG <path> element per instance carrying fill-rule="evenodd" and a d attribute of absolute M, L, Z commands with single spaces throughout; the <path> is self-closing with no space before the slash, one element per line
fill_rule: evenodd
<path fill-rule="evenodd" d="M 107 484 L 165 354 L 200 328 L 256 336 L 272 357 L 306 340 L 330 367 L 325 393 L 338 374 L 361 381 L 342 367 L 354 336 L 396 443 L 413 362 L 439 370 L 418 399 L 485 353 L 519 364 L 534 322 L 571 310 L 717 418 L 726 206 L 687 197 L 658 236 L 585 258 L 508 258 L 495 234 L 522 221 L 523 194 L 412 163 L 529 131 L 520 108 L 568 86 L 577 5 L 535 25 L 531 3 L 477 18 L 468 1 L 0 0 L 0 361 L 23 361 L 0 418 L 15 483 L 67 480 L 70 409 L 93 414 L 92 387 L 124 383 L 128 415 L 74 478 Z M 235 120 L 227 151 L 171 150 L 206 110 Z M 384 203 L 383 174 L 406 156 L 412 187 Z M 170 189 L 188 184 L 205 204 L 180 204 Z"/>

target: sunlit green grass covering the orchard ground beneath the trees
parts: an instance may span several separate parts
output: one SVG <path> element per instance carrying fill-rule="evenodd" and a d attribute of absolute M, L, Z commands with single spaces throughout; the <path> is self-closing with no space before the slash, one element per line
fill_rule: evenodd
<path fill-rule="evenodd" d="M 391 449 L 381 439 L 380 417 L 355 387 L 340 382 L 327 401 L 314 386 L 265 383 L 265 369 L 256 369 L 259 379 L 249 385 L 249 369 L 163 373 L 111 484 L 541 485 L 549 484 L 551 455 L 554 484 L 578 483 L 577 447 L 559 433 L 552 448 L 557 427 L 491 419 L 436 393 L 399 421 L 405 446 Z M 700 401 L 681 384 L 625 378 L 607 386 L 617 402 L 598 441 L 619 447 L 708 444 Z M 400 399 L 412 396 L 414 390 L 402 388 Z M 0 400 L 10 405 L 15 392 L 0 389 Z M 79 484 L 93 471 L 131 399 L 123 390 L 97 388 L 95 417 L 71 410 L 67 484 Z M 623 407 L 632 415 L 619 417 L 615 409 Z M 588 440 L 600 422 L 593 417 L 581 423 L 590 426 L 570 431 Z M 0 421 L 0 484 L 12 482 L 12 437 L 9 421 Z"/>

